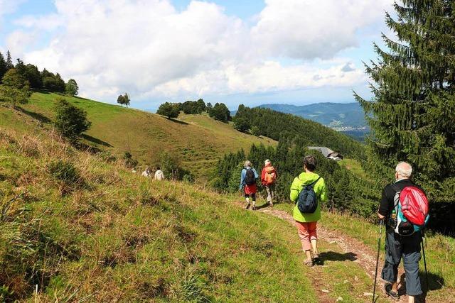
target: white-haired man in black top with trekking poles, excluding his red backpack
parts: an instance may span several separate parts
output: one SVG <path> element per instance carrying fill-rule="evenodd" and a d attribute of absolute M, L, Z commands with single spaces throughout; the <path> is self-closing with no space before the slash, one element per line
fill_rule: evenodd
<path fill-rule="evenodd" d="M 422 286 L 419 277 L 419 260 L 420 241 L 422 241 L 422 232 L 417 226 L 413 226 L 410 236 L 400 236 L 397 233 L 397 224 L 394 220 L 399 216 L 395 210 L 395 204 L 399 202 L 400 197 L 396 198 L 397 192 L 404 192 L 406 187 L 417 187 L 422 194 L 424 191 L 410 179 L 412 167 L 407 162 L 398 163 L 395 167 L 395 183 L 387 185 L 382 190 L 382 199 L 380 202 L 378 216 L 379 219 L 385 219 L 386 237 L 385 237 L 385 263 L 382 268 L 382 279 L 389 282 L 385 285 L 385 292 L 392 298 L 398 299 L 397 275 L 398 265 L 403 258 L 406 275 L 406 294 L 408 302 L 413 303 L 414 297 L 422 294 Z M 400 196 L 400 194 L 398 194 Z M 426 198 L 425 198 L 426 199 Z M 396 202 L 395 202 L 396 201 Z M 425 222 L 428 220 L 428 216 Z M 396 222 L 396 221 L 395 221 Z M 403 229 L 400 231 L 403 233 Z"/>

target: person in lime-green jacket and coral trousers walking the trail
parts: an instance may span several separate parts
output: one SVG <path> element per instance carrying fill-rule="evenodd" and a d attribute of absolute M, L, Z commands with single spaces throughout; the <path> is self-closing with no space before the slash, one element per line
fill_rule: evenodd
<path fill-rule="evenodd" d="M 315 169 L 316 158 L 313 155 L 307 155 L 304 158 L 304 172 L 301 172 L 299 177 L 296 177 L 292 182 L 290 194 L 291 201 L 297 202 L 294 206 L 293 217 L 296 221 L 302 249 L 306 254 L 304 264 L 308 266 L 321 263 L 317 247 L 316 224 L 321 219 L 321 203 L 327 201 L 326 183 L 322 177 L 314 172 Z M 312 187 L 316 205 L 314 205 L 314 209 L 302 213 L 299 204 L 301 199 L 308 197 L 310 187 Z M 306 194 L 305 197 L 304 194 Z M 311 248 L 313 248 L 313 258 L 311 258 Z"/>

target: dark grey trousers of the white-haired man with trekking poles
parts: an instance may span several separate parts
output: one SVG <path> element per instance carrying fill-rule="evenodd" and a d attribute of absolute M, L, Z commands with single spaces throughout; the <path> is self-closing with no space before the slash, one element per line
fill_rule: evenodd
<path fill-rule="evenodd" d="M 410 296 L 422 294 L 419 277 L 420 241 L 422 241 L 420 232 L 402 237 L 393 231 L 387 231 L 385 238 L 385 264 L 382 268 L 382 279 L 397 282 L 398 265 L 403 258 L 406 294 Z"/>

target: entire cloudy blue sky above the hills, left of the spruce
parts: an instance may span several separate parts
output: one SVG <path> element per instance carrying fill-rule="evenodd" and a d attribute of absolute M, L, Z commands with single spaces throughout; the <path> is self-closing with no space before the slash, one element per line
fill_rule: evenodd
<path fill-rule="evenodd" d="M 0 0 L 0 51 L 74 78 L 84 97 L 154 110 L 202 97 L 310 104 L 369 97 L 392 1 Z"/>

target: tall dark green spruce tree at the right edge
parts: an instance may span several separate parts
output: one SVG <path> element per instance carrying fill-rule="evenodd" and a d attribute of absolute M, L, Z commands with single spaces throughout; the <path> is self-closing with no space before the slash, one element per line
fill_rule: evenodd
<path fill-rule="evenodd" d="M 378 61 L 365 65 L 373 99 L 355 94 L 372 131 L 368 162 L 376 172 L 410 162 L 441 201 L 455 190 L 455 1 L 403 0 L 395 11 L 385 20 L 397 38 L 382 35 L 387 50 L 374 45 Z"/>

